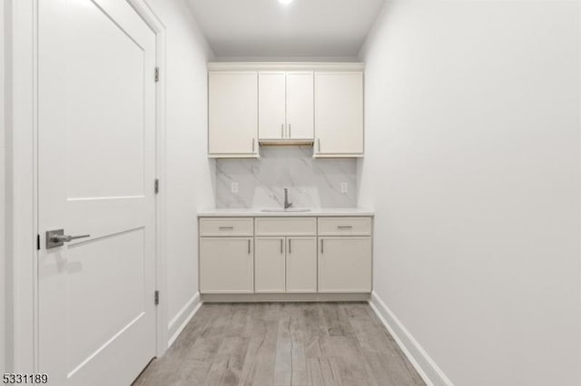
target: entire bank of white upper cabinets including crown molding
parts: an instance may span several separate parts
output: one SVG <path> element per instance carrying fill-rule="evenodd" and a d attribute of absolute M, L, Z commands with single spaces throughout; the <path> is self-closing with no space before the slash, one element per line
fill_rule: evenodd
<path fill-rule="evenodd" d="M 208 155 L 260 158 L 259 142 L 363 157 L 363 64 L 209 63 Z"/>

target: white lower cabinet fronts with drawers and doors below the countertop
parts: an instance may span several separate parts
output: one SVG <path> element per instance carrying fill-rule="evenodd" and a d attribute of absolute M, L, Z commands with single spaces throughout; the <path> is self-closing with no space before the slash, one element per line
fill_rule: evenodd
<path fill-rule="evenodd" d="M 200 292 L 369 294 L 371 235 L 371 217 L 203 217 Z"/>

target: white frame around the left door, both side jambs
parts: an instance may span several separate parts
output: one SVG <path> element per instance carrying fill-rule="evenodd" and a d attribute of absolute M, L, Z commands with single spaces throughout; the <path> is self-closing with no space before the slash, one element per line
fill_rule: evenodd
<path fill-rule="evenodd" d="M 39 372 L 38 368 L 38 2 L 5 0 L 7 41 L 5 66 L 5 363 L 6 372 Z M 167 283 L 165 258 L 165 25 L 146 0 L 126 0 L 155 34 L 155 196 L 156 354 L 167 349 Z M 152 74 L 153 76 L 153 74 Z M 152 181 L 153 183 L 153 181 Z M 152 185 L 153 189 L 153 185 Z M 1 227 L 0 227 L 1 228 Z M 153 294 L 152 294 L 153 301 Z M 165 328 L 164 328 L 165 327 Z M 137 374 L 135 374 L 137 375 Z"/>

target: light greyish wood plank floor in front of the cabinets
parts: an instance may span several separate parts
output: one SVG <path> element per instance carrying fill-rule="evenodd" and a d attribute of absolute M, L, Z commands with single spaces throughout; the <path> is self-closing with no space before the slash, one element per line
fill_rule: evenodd
<path fill-rule="evenodd" d="M 365 303 L 203 304 L 135 386 L 424 385 Z"/>

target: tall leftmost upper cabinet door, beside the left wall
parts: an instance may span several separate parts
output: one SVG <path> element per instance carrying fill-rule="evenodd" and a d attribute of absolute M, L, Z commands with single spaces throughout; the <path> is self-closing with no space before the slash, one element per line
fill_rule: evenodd
<path fill-rule="evenodd" d="M 210 72 L 208 154 L 258 156 L 258 73 Z"/>

